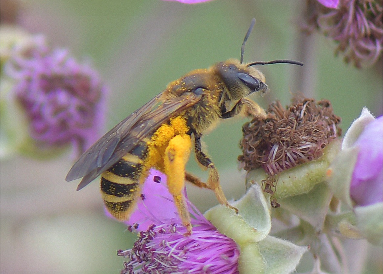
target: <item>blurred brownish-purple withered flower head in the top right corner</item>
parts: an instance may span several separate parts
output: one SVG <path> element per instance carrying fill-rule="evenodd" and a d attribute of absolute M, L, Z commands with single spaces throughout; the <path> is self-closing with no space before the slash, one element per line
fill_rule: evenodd
<path fill-rule="evenodd" d="M 308 3 L 306 30 L 318 29 L 333 39 L 338 44 L 336 54 L 344 53 L 345 62 L 361 67 L 381 60 L 381 1 L 340 0 L 337 8 L 324 3 L 325 7 L 314 0 Z"/>

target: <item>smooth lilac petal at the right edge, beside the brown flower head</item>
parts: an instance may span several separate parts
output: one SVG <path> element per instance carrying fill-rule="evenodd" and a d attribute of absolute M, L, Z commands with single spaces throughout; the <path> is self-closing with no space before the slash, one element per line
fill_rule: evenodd
<path fill-rule="evenodd" d="M 359 206 L 383 201 L 383 116 L 367 124 L 354 146 L 359 148 L 350 196 Z"/>

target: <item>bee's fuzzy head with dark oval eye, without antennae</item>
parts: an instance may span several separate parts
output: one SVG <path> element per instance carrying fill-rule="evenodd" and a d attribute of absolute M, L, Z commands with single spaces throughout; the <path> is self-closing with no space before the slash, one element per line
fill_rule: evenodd
<path fill-rule="evenodd" d="M 225 85 L 226 99 L 239 100 L 255 91 L 268 90 L 265 76 L 259 70 L 232 59 L 215 65 L 216 73 Z"/>

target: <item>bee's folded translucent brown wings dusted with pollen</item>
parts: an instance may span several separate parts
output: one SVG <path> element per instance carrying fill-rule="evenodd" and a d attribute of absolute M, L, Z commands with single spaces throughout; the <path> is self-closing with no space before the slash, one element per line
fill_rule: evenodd
<path fill-rule="evenodd" d="M 84 152 L 69 170 L 65 180 L 83 177 L 77 186 L 77 190 L 82 189 L 131 151 L 144 137 L 151 136 L 170 117 L 181 113 L 201 98 L 201 95 L 188 93 L 165 101 L 153 109 L 161 95 L 119 122 Z"/>

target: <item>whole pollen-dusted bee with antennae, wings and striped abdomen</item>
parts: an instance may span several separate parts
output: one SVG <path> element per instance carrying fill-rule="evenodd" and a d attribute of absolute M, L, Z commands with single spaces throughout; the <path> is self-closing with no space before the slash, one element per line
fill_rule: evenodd
<path fill-rule="evenodd" d="M 202 149 L 201 137 L 222 119 L 238 114 L 265 116 L 264 109 L 246 98 L 268 90 L 265 76 L 254 65 L 303 65 L 291 60 L 244 64 L 244 45 L 254 23 L 242 43 L 241 60 L 229 59 L 208 69 L 193 70 L 171 82 L 84 152 L 69 170 L 66 181 L 82 177 L 77 187 L 80 190 L 101 175 L 106 208 L 116 219 L 127 220 L 149 170 L 156 168 L 167 175 L 167 187 L 187 228 L 186 235 L 192 233 L 192 227 L 182 194 L 185 180 L 211 189 L 219 203 L 237 212 L 225 197 L 218 171 Z M 206 183 L 185 171 L 192 148 L 198 163 L 209 171 Z"/>

